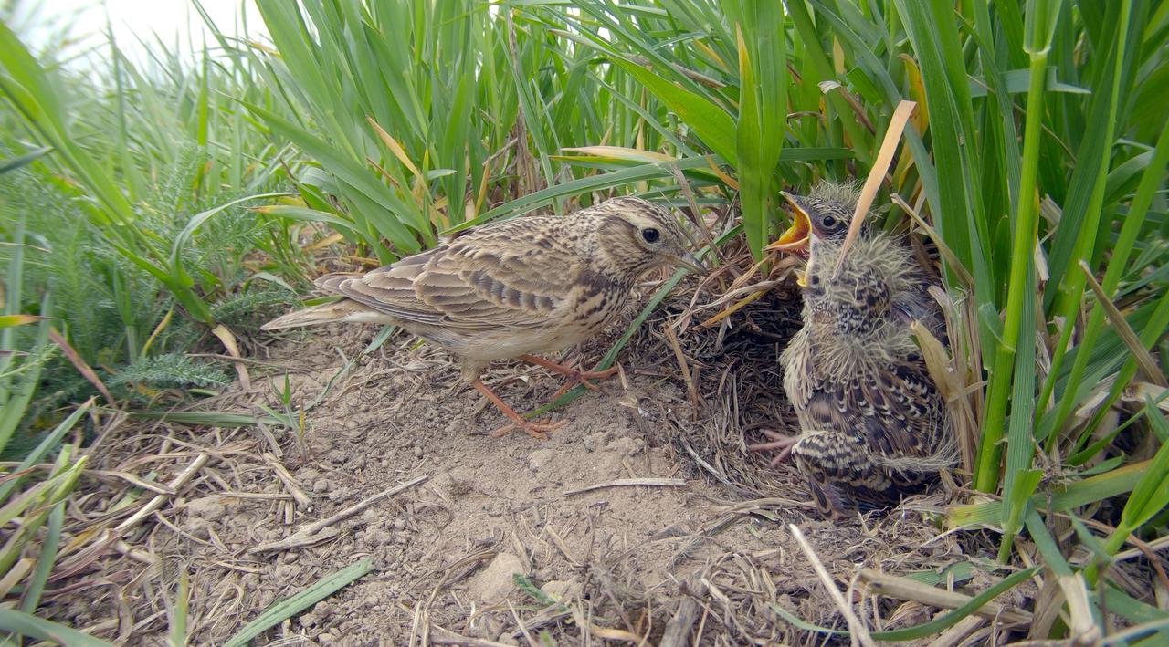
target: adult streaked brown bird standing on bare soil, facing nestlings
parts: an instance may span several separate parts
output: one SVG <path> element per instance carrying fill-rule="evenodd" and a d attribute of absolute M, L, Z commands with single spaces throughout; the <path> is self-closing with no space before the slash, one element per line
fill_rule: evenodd
<path fill-rule="evenodd" d="M 599 390 L 579 371 L 537 357 L 596 335 L 620 313 L 634 281 L 662 265 L 705 271 L 686 251 L 677 218 L 637 197 L 575 214 L 521 217 L 459 231 L 434 249 L 367 273 L 316 280 L 339 301 L 285 314 L 265 331 L 333 321 L 393 324 L 461 359 L 463 377 L 520 429 L 545 438 L 560 423 L 525 420 L 480 380 L 496 360 L 520 357 Z"/>

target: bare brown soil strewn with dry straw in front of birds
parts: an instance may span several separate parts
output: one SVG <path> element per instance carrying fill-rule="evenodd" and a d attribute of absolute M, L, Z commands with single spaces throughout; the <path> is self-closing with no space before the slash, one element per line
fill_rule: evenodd
<path fill-rule="evenodd" d="M 789 466 L 746 452 L 760 429 L 795 431 L 775 356 L 795 331 L 797 299 L 761 299 L 721 328 L 691 322 L 676 350 L 663 326 L 685 305 L 667 301 L 651 316 L 603 392 L 554 411 L 567 424 L 547 440 L 487 436 L 504 418 L 448 355 L 408 335 L 365 355 L 375 327 L 275 341 L 249 367 L 251 389 L 214 409 L 278 409 L 272 385 L 288 375 L 292 404 L 313 403 L 307 455 L 279 425 L 119 431 L 103 447 L 106 469 L 159 469 L 167 482 L 200 454 L 208 460 L 120 554 L 94 562 L 98 584 L 58 598 L 56 614 L 157 645 L 186 573 L 191 642 L 222 643 L 272 603 L 369 558 L 369 575 L 257 643 L 527 645 L 547 633 L 560 645 L 655 645 L 673 632 L 701 645 L 819 645 L 848 639 L 800 629 L 775 611 L 846 628 L 788 523 L 842 590 L 862 568 L 905 575 L 971 557 L 928 522 L 945 494 L 829 522 Z M 594 361 L 620 332 L 579 355 Z M 561 384 L 526 364 L 503 364 L 487 382 L 518 410 Z M 656 485 L 621 483 L 629 479 Z M 257 551 L 407 482 L 327 524 L 311 545 Z M 876 599 L 858 608 L 885 628 L 935 611 Z"/>

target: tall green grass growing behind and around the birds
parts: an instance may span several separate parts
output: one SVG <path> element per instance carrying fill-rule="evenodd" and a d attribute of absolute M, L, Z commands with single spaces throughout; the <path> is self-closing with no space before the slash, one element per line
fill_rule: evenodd
<path fill-rule="evenodd" d="M 110 43 L 96 84 L 0 27 L 2 168 L 19 167 L 0 182 L 30 187 L 6 204 L 41 196 L 84 223 L 53 231 L 26 207 L 5 220 L 25 250 L 6 252 L 25 269 L 6 314 L 44 314 L 50 288 L 87 361 L 146 370 L 136 362 L 189 347 L 256 285 L 316 271 L 305 231 L 387 263 L 615 192 L 689 204 L 679 178 L 699 206 L 736 207 L 717 234 L 762 259 L 777 190 L 867 175 L 912 99 L 877 202 L 891 206 L 872 216 L 941 250 L 974 418 L 957 475 L 985 495 L 946 522 L 999 533 L 1003 561 L 1025 533 L 1101 631 L 1101 610 L 1148 619 L 1100 565 L 1165 534 L 1169 4 L 257 5 L 270 42 L 215 32 L 194 65 L 157 50 L 148 69 Z M 54 271 L 57 250 L 83 260 Z M 39 325 L 5 328 L 4 347 L 41 348 Z"/>

